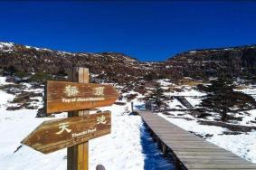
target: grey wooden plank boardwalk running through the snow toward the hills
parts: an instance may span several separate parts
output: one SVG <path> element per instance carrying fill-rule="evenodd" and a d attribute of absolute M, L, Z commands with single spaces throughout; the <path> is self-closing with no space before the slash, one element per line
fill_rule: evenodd
<path fill-rule="evenodd" d="M 256 165 L 215 146 L 150 111 L 137 111 L 143 118 L 162 152 L 175 160 L 176 169 L 255 169 Z"/>

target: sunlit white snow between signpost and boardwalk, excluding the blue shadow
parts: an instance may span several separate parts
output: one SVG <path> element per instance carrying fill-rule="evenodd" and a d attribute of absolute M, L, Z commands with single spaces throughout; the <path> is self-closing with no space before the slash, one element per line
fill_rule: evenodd
<path fill-rule="evenodd" d="M 111 135 L 90 140 L 90 169 L 98 164 L 107 169 L 143 169 L 139 131 L 142 120 L 128 116 L 125 108 L 104 108 L 112 112 L 112 132 Z"/>

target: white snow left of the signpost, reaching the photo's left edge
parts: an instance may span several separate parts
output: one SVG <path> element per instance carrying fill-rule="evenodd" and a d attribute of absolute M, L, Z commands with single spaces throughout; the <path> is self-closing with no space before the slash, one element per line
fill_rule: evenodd
<path fill-rule="evenodd" d="M 24 137 L 44 120 L 52 118 L 34 118 L 35 109 L 5 110 L 7 101 L 12 99 L 14 95 L 0 90 L 0 167 L 5 167 L 5 170 L 63 169 L 66 165 L 63 160 L 66 153 L 63 151 L 43 155 L 28 146 L 22 146 L 14 153 Z"/>

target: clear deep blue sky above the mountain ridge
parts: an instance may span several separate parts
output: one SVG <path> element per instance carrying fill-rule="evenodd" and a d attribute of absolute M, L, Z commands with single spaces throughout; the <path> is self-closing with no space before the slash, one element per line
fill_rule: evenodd
<path fill-rule="evenodd" d="M 164 61 L 256 43 L 256 1 L 1 1 L 0 41 Z"/>

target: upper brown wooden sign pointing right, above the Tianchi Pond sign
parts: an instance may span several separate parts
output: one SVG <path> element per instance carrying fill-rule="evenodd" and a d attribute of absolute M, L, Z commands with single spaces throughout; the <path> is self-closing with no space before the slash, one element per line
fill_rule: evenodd
<path fill-rule="evenodd" d="M 119 97 L 112 85 L 47 81 L 45 108 L 47 113 L 93 109 L 113 104 Z"/>

